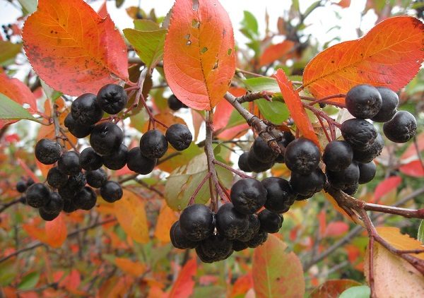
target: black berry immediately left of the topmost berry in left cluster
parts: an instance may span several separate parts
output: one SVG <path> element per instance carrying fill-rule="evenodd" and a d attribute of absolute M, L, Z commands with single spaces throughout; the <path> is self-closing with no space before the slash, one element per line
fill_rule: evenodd
<path fill-rule="evenodd" d="M 82 126 L 90 126 L 100 121 L 103 117 L 103 111 L 98 105 L 96 96 L 86 93 L 76 97 L 71 105 L 72 118 Z"/>

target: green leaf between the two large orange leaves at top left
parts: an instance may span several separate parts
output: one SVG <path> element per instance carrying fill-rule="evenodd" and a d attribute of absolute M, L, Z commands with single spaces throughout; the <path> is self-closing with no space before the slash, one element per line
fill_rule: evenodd
<path fill-rule="evenodd" d="M 165 29 L 148 31 L 124 29 L 126 39 L 148 67 L 158 64 L 163 59 L 166 32 Z"/>

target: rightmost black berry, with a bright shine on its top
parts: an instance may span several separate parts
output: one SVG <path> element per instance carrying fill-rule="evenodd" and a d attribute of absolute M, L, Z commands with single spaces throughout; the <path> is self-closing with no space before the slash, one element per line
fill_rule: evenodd
<path fill-rule="evenodd" d="M 417 121 L 413 114 L 397 112 L 393 119 L 383 124 L 384 136 L 394 143 L 406 143 L 416 135 Z"/>

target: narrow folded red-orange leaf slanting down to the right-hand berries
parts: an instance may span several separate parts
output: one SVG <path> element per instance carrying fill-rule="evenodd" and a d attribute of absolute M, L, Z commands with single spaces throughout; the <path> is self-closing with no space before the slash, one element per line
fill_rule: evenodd
<path fill-rule="evenodd" d="M 302 105 L 299 94 L 293 90 L 291 81 L 288 80 L 287 76 L 282 69 L 278 69 L 274 75 L 277 80 L 278 86 L 280 87 L 281 94 L 285 105 L 287 105 L 290 115 L 295 121 L 296 126 L 305 138 L 309 138 L 311 141 L 319 146 L 317 135 L 314 132 L 310 119 L 307 117 L 305 108 Z"/>

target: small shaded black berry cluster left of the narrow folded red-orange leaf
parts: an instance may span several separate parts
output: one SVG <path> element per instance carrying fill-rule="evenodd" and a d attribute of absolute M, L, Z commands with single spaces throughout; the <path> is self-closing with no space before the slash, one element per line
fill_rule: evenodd
<path fill-rule="evenodd" d="M 256 138 L 249 151 L 240 155 L 238 166 L 245 172 L 264 172 L 271 169 L 276 162 L 284 162 L 284 150 L 295 139 L 292 133 L 285 131 L 278 146 L 283 153 L 278 155 L 260 136 Z"/>

